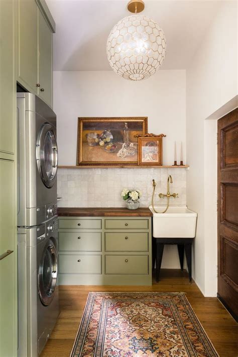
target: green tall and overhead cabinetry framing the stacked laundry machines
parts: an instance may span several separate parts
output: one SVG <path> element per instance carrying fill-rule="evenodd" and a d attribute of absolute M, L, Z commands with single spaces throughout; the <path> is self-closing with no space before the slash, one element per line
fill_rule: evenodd
<path fill-rule="evenodd" d="M 18 349 L 16 88 L 52 106 L 53 32 L 45 0 L 0 0 L 0 357 Z"/>

